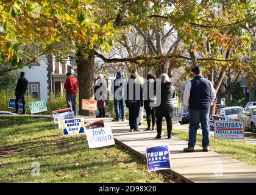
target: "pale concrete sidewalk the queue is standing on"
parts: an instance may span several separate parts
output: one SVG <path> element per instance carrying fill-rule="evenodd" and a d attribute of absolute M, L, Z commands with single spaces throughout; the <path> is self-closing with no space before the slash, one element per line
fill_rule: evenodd
<path fill-rule="evenodd" d="M 172 137 L 166 139 L 163 134 L 161 140 L 155 140 L 156 132 L 129 132 L 129 123 L 110 122 L 105 125 L 112 127 L 116 142 L 142 158 L 146 158 L 146 147 L 158 144 L 169 144 L 171 152 L 172 171 L 186 182 L 253 182 L 256 183 L 256 167 L 241 161 L 218 154 L 216 152 L 202 152 L 202 147 L 196 146 L 195 152 L 183 152 L 187 141 Z"/>

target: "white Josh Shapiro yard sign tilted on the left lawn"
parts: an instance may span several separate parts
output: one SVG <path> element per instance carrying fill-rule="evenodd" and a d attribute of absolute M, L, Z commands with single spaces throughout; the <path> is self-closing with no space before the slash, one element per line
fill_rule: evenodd
<path fill-rule="evenodd" d="M 98 129 L 85 129 L 90 148 L 115 145 L 115 140 L 110 127 Z"/>

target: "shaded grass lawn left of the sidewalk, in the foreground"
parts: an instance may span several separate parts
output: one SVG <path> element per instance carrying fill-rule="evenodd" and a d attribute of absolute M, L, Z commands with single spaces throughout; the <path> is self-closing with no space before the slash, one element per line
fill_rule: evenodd
<path fill-rule="evenodd" d="M 32 163 L 40 176 L 32 176 Z M 89 149 L 85 135 L 63 137 L 52 119 L 0 117 L 0 182 L 171 182 L 115 146 Z"/>

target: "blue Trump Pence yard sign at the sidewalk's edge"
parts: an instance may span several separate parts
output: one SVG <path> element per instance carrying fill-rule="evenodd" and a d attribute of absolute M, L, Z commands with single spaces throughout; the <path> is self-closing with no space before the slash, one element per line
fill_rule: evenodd
<path fill-rule="evenodd" d="M 153 146 L 146 148 L 148 171 L 171 169 L 169 146 Z"/>

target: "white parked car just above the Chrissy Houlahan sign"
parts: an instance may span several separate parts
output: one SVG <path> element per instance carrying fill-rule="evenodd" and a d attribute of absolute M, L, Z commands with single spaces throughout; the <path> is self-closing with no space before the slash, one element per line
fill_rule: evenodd
<path fill-rule="evenodd" d="M 216 116 L 223 116 L 226 120 L 235 120 L 237 121 L 237 114 L 241 112 L 243 108 L 241 106 L 232 106 L 221 108 L 217 113 Z"/>

